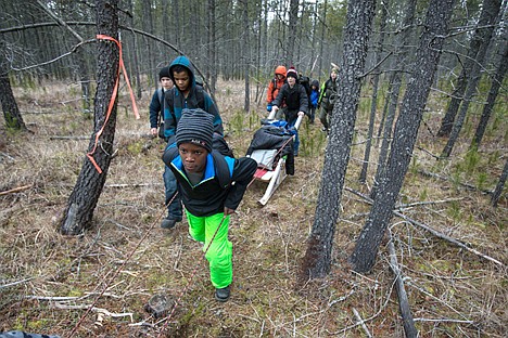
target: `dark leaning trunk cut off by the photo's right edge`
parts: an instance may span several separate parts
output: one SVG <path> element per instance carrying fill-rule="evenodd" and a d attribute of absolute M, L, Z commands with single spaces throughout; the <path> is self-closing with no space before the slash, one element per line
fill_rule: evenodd
<path fill-rule="evenodd" d="M 508 43 L 506 40 L 503 40 L 501 43 L 504 43 L 503 56 L 497 66 L 496 74 L 494 75 L 494 79 L 492 80 L 491 90 L 488 91 L 487 102 L 483 106 L 482 117 L 480 118 L 480 122 L 478 123 L 477 132 L 474 133 L 471 147 L 478 148 L 482 142 L 483 134 L 485 133 L 486 126 L 488 123 L 488 119 L 491 118 L 492 108 L 494 107 L 494 103 L 496 102 L 497 94 L 499 93 L 499 88 L 506 76 L 506 70 L 508 69 Z"/>

